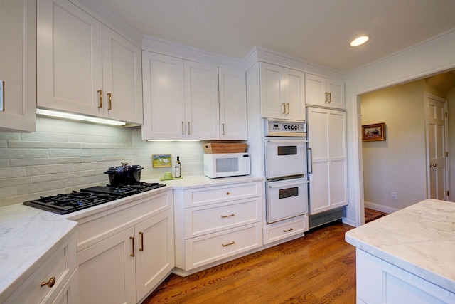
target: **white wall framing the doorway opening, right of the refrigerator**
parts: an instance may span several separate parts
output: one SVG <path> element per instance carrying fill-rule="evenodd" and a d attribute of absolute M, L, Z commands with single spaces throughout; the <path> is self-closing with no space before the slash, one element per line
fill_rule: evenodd
<path fill-rule="evenodd" d="M 347 224 L 363 223 L 363 167 L 358 95 L 455 67 L 455 30 L 349 73 L 345 80 L 348 127 Z"/>

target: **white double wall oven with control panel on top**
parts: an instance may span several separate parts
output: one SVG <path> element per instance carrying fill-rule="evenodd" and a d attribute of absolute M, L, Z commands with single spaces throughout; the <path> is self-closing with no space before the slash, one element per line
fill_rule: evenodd
<path fill-rule="evenodd" d="M 267 224 L 308 213 L 306 123 L 264 120 Z"/>

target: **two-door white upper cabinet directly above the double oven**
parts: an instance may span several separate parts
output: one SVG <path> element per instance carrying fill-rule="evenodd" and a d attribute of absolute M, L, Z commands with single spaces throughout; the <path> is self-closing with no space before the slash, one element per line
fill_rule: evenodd
<path fill-rule="evenodd" d="M 260 63 L 261 117 L 305 120 L 304 73 Z"/>

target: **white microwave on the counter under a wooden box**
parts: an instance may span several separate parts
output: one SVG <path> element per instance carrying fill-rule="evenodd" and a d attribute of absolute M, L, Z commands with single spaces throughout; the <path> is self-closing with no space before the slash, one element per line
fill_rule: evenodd
<path fill-rule="evenodd" d="M 248 175 L 250 174 L 250 154 L 204 154 L 204 174 L 213 179 Z"/>

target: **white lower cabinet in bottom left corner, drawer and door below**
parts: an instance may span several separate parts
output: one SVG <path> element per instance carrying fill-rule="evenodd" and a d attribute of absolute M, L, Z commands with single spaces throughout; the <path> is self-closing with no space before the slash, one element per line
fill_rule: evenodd
<path fill-rule="evenodd" d="M 79 303 L 77 296 L 76 238 L 73 234 L 4 304 Z"/>

